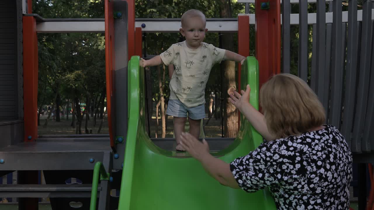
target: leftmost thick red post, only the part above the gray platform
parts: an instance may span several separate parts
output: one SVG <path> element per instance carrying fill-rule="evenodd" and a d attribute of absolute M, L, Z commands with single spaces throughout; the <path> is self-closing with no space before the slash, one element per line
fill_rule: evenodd
<path fill-rule="evenodd" d="M 38 39 L 36 19 L 23 17 L 24 74 L 24 141 L 32 142 L 38 135 Z M 31 136 L 31 139 L 28 139 Z"/>

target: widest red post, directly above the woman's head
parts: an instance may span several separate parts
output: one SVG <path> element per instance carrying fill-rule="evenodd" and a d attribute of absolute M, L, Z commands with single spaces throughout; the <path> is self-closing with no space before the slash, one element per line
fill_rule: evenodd
<path fill-rule="evenodd" d="M 270 9 L 261 9 L 269 2 Z M 255 1 L 256 58 L 261 86 L 272 75 L 281 73 L 281 3 L 279 0 Z"/>

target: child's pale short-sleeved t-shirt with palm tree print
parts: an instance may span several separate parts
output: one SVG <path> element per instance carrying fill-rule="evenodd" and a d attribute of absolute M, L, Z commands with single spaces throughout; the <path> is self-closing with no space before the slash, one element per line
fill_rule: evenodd
<path fill-rule="evenodd" d="M 161 53 L 164 64 L 175 67 L 169 99 L 179 99 L 188 108 L 205 104 L 205 85 L 210 71 L 222 61 L 225 51 L 204 42 L 197 49 L 190 49 L 183 41 Z"/>

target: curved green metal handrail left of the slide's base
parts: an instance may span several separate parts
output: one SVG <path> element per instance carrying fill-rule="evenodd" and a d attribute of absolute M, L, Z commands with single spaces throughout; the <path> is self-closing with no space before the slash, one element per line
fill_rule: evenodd
<path fill-rule="evenodd" d="M 109 180 L 110 174 L 105 171 L 104 165 L 101 162 L 97 162 L 93 168 L 90 210 L 96 210 L 99 174 L 100 180 Z"/>

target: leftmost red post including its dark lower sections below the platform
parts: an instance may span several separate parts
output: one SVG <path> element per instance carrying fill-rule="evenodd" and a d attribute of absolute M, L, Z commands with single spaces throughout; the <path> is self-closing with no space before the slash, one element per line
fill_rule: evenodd
<path fill-rule="evenodd" d="M 31 1 L 28 2 L 31 4 Z M 28 7 L 29 12 L 31 6 Z M 24 141 L 33 142 L 38 134 L 38 40 L 36 19 L 24 16 L 23 24 L 23 77 L 24 77 Z M 30 137 L 30 138 L 28 138 Z M 20 184 L 37 184 L 37 171 L 20 171 Z M 37 210 L 38 198 L 19 198 L 20 210 Z"/>

